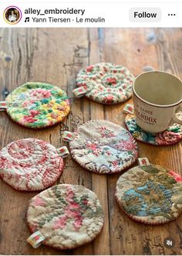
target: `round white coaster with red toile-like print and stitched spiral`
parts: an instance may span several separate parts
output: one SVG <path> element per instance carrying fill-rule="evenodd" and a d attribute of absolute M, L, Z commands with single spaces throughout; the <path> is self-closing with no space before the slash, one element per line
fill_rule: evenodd
<path fill-rule="evenodd" d="M 62 148 L 35 138 L 9 143 L 0 151 L 0 177 L 14 189 L 45 189 L 62 173 L 62 157 L 68 155 L 66 147 Z"/>

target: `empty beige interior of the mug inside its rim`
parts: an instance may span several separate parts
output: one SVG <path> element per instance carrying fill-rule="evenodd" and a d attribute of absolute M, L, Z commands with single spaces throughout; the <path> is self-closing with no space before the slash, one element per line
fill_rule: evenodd
<path fill-rule="evenodd" d="M 182 83 L 170 73 L 150 71 L 136 77 L 133 91 L 147 103 L 171 106 L 181 101 Z"/>

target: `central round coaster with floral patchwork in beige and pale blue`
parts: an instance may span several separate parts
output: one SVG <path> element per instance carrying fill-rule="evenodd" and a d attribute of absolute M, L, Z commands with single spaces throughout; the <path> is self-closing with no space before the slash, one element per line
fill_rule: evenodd
<path fill-rule="evenodd" d="M 63 139 L 69 141 L 72 158 L 91 172 L 121 172 L 137 159 L 137 145 L 130 132 L 110 121 L 88 121 L 67 133 Z"/>

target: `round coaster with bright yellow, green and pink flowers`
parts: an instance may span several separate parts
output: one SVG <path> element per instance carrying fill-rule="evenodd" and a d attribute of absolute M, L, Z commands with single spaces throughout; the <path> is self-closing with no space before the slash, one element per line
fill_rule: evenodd
<path fill-rule="evenodd" d="M 52 84 L 27 83 L 17 87 L 0 103 L 13 121 L 29 128 L 56 125 L 69 114 L 66 92 Z"/>

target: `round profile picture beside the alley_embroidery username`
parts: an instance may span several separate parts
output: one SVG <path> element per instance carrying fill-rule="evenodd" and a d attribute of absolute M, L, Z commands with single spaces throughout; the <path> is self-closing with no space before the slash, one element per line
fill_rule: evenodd
<path fill-rule="evenodd" d="M 8 6 L 4 11 L 4 19 L 8 24 L 15 25 L 22 19 L 22 12 L 16 6 Z"/>

